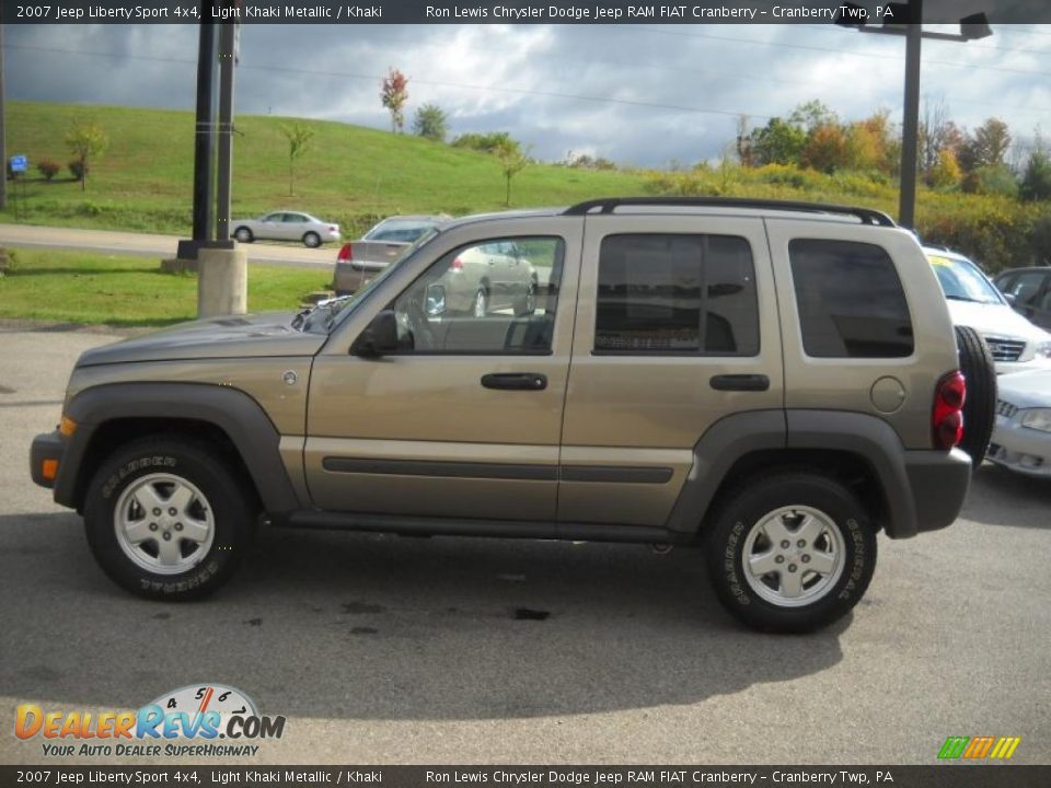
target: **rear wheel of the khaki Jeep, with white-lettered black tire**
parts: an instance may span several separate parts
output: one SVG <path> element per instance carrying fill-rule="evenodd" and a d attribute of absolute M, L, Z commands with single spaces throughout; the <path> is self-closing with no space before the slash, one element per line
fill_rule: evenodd
<path fill-rule="evenodd" d="M 804 530 L 798 515 L 807 514 L 811 524 Z M 787 538 L 771 542 L 764 523 L 775 533 L 779 526 Z M 806 547 L 801 537 L 809 538 L 802 540 Z M 706 548 L 719 601 L 738 621 L 762 631 L 807 633 L 832 624 L 858 603 L 876 569 L 876 532 L 865 509 L 838 480 L 809 471 L 752 478 L 738 487 L 719 507 Z M 755 571 L 744 566 L 746 549 Z M 811 570 L 819 561 L 828 572 Z M 767 564 L 771 571 L 760 575 Z M 799 584 L 795 596 L 793 580 Z"/>

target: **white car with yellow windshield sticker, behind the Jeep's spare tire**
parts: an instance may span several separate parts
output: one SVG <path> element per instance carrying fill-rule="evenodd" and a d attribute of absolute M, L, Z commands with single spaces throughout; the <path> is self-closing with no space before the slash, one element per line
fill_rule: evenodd
<path fill-rule="evenodd" d="M 981 334 L 997 374 L 1051 370 L 1051 334 L 1015 312 L 981 268 L 955 252 L 934 247 L 924 252 L 942 283 L 954 325 Z"/>

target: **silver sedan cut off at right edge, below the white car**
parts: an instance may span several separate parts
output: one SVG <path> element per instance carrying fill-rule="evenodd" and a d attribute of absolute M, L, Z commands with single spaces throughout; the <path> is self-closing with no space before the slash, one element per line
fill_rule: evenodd
<path fill-rule="evenodd" d="M 1019 372 L 998 383 L 986 457 L 1017 473 L 1051 478 L 1051 371 Z"/>

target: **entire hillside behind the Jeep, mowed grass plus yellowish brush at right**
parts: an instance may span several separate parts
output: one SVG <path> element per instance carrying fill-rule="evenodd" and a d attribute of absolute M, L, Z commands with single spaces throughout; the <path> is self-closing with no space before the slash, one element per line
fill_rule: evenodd
<path fill-rule="evenodd" d="M 77 119 L 101 124 L 109 148 L 91 165 L 88 192 L 66 169 L 63 137 Z M 233 212 L 256 216 L 298 208 L 337 221 L 355 236 L 377 217 L 407 212 L 453 216 L 504 208 L 504 176 L 493 157 L 409 135 L 301 120 L 314 131 L 288 193 L 289 118 L 242 116 L 234 141 Z M 30 157 L 22 221 L 36 224 L 188 234 L 193 201 L 194 116 L 188 111 L 10 102 L 8 152 Z M 513 130 L 511 135 L 515 136 Z M 526 144 L 529 140 L 522 140 Z M 62 165 L 51 183 L 35 165 Z M 897 184 L 882 175 L 832 175 L 794 166 L 700 166 L 680 172 L 594 171 L 535 164 L 513 179 L 512 206 L 568 205 L 638 194 L 725 195 L 845 202 L 897 213 Z M 917 229 L 980 259 L 988 269 L 1051 258 L 1048 204 L 997 195 L 921 188 Z M 0 221 L 14 221 L 12 201 Z"/>

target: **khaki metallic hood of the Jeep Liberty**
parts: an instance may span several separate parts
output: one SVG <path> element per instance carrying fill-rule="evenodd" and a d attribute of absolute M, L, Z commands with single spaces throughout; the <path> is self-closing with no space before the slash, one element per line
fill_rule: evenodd
<path fill-rule="evenodd" d="M 83 352 L 78 367 L 182 359 L 313 356 L 328 338 L 291 327 L 294 312 L 227 315 L 125 339 Z"/>

